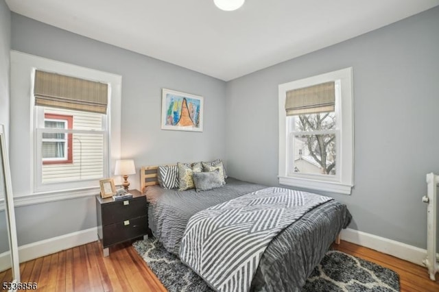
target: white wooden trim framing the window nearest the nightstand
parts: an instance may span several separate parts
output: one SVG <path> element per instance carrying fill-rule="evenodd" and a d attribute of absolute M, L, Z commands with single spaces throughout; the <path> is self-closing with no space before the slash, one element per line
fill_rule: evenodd
<path fill-rule="evenodd" d="M 121 75 L 117 75 L 114 73 L 108 73 L 104 71 L 99 71 L 95 69 L 86 68 L 83 66 L 78 66 L 75 64 L 69 64 L 65 62 L 60 62 L 57 60 L 51 60 L 47 58 L 42 58 L 38 56 L 33 56 L 28 53 L 22 53 L 20 51 L 10 51 L 10 60 L 11 60 L 11 97 L 12 99 L 24 99 L 27 98 L 28 108 L 20 108 L 20 115 L 29 114 L 30 117 L 30 125 L 27 127 L 29 132 L 23 131 L 21 135 L 25 137 L 28 135 L 29 141 L 26 143 L 25 141 L 16 141 L 11 138 L 11 147 L 20 147 L 23 151 L 25 151 L 24 147 L 28 147 L 26 155 L 29 157 L 29 160 L 32 163 L 32 167 L 30 169 L 21 169 L 20 165 L 11 165 L 12 172 L 15 170 L 16 178 L 21 178 L 21 182 L 25 181 L 28 178 L 28 181 L 23 184 L 19 188 L 19 191 L 14 193 L 15 197 L 26 197 L 29 195 L 38 195 L 37 192 L 41 191 L 54 191 L 54 189 L 50 188 L 40 188 L 37 186 L 36 182 L 36 153 L 34 150 L 34 141 L 36 139 L 36 133 L 34 132 L 34 123 L 36 122 L 36 117 L 34 111 L 32 110 L 34 105 L 34 96 L 33 96 L 33 76 L 36 69 L 47 71 L 51 73 L 59 73 L 72 77 L 86 78 L 87 80 L 92 80 L 96 82 L 104 82 L 110 84 L 109 86 L 109 97 L 108 100 L 108 109 L 110 110 L 110 119 L 107 119 L 106 126 L 110 129 L 110 133 L 108 135 L 108 149 L 104 149 L 108 154 L 109 162 L 107 161 L 104 164 L 106 165 L 104 172 L 108 177 L 110 177 L 111 173 L 115 169 L 116 160 L 119 160 L 121 157 L 121 84 L 122 77 Z M 14 112 L 12 112 L 14 111 Z M 12 107 L 11 115 L 16 114 L 16 107 Z M 21 125 L 21 128 L 24 126 Z M 24 138 L 23 138 L 24 139 Z M 15 157 L 11 157 L 11 161 L 14 162 Z M 17 159 L 18 161 L 20 159 Z M 14 178 L 14 173 L 12 173 L 12 177 Z M 14 184 L 14 182 L 12 182 Z M 17 182 L 15 182 L 17 184 Z M 93 186 L 97 186 L 99 182 L 93 182 Z M 82 188 L 86 187 L 84 185 Z M 72 188 L 67 186 L 67 188 Z M 76 188 L 76 186 L 73 186 Z M 38 190 L 38 191 L 36 191 Z"/>

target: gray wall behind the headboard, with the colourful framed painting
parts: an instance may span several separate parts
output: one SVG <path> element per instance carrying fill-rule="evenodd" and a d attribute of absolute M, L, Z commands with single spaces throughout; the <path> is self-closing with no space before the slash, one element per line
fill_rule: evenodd
<path fill-rule="evenodd" d="M 121 156 L 133 158 L 137 169 L 225 157 L 225 82 L 14 13 L 11 47 L 121 75 Z M 161 130 L 162 88 L 204 97 L 204 132 Z M 12 167 L 19 165 L 12 161 Z M 131 175 L 130 182 L 139 188 L 139 173 Z M 96 226 L 95 201 L 88 197 L 21 206 L 16 217 L 19 245 L 24 245 Z"/>

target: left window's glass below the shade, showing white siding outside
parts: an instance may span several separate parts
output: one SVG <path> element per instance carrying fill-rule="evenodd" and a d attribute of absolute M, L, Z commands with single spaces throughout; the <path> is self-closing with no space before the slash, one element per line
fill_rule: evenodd
<path fill-rule="evenodd" d="M 35 112 L 37 120 L 45 117 L 44 126 L 36 128 L 36 172 L 40 174 L 38 182 L 49 184 L 106 177 L 105 114 L 47 106 L 35 106 Z M 64 121 L 61 117 L 65 117 Z M 69 133 L 65 129 L 69 129 Z"/>

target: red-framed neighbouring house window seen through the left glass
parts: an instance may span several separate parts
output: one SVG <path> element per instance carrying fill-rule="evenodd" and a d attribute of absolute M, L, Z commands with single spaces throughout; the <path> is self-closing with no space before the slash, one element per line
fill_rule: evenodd
<path fill-rule="evenodd" d="M 64 114 L 45 114 L 44 127 L 70 130 L 73 116 Z M 42 141 L 43 165 L 72 163 L 72 134 L 45 133 Z"/>

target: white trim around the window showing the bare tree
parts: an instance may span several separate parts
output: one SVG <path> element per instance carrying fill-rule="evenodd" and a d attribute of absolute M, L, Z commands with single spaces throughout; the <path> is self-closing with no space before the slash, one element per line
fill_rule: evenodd
<path fill-rule="evenodd" d="M 353 69 L 352 67 L 324 73 L 302 80 L 296 80 L 278 86 L 278 113 L 279 113 L 279 156 L 278 178 L 279 184 L 309 188 L 317 191 L 329 191 L 350 195 L 353 187 L 353 160 L 354 160 L 354 119 L 353 119 Z M 289 143 L 287 143 L 289 126 L 285 113 L 285 98 L 288 90 L 307 87 L 324 82 L 341 80 L 341 101 L 337 106 L 341 115 L 337 115 L 340 123 L 340 141 L 337 147 L 337 175 L 335 178 L 322 178 L 323 175 L 295 175 L 289 170 Z M 341 154 L 341 155 L 340 155 Z"/>

